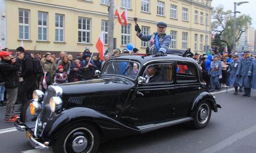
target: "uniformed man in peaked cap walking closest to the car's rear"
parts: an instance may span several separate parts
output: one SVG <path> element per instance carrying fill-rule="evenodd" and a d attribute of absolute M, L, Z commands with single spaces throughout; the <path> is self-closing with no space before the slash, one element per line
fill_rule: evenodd
<path fill-rule="evenodd" d="M 211 62 L 208 75 L 210 75 L 211 90 L 215 91 L 215 86 L 217 86 L 218 91 L 220 91 L 219 76 L 221 75 L 221 62 L 218 60 L 218 55 L 213 55 L 213 61 Z"/>

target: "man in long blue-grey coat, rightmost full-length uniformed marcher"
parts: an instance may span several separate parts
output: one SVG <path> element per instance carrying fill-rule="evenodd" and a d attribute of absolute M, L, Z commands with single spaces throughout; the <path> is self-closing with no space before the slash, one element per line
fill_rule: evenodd
<path fill-rule="evenodd" d="M 244 87 L 243 96 L 251 96 L 251 78 L 248 77 L 248 71 L 253 60 L 254 57 L 249 56 L 249 51 L 244 51 L 244 57 L 241 57 L 236 72 L 236 77 L 241 78 L 241 86 Z"/>

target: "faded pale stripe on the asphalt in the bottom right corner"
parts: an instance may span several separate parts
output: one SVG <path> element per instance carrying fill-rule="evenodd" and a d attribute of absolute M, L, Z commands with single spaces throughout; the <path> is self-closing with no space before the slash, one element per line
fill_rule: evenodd
<path fill-rule="evenodd" d="M 215 153 L 217 151 L 220 151 L 221 149 L 225 148 L 226 146 L 231 145 L 235 141 L 244 138 L 245 136 L 248 136 L 249 134 L 256 131 L 256 125 L 245 129 L 244 131 L 240 131 L 236 134 L 233 134 L 232 136 L 229 136 L 227 139 L 224 139 L 220 143 L 216 144 L 215 146 L 212 146 L 200 153 Z"/>

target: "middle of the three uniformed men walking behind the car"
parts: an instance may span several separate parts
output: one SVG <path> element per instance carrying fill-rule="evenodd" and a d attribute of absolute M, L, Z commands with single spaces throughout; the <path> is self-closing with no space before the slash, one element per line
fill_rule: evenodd
<path fill-rule="evenodd" d="M 238 86 L 241 86 L 241 82 L 240 82 L 241 79 L 236 77 L 236 72 L 237 72 L 240 60 L 238 59 L 238 55 L 233 55 L 232 57 L 233 57 L 233 61 L 230 62 L 229 69 L 227 70 L 227 72 L 229 73 L 229 76 L 231 78 L 230 86 L 234 86 L 235 88 L 234 95 L 237 95 Z"/>

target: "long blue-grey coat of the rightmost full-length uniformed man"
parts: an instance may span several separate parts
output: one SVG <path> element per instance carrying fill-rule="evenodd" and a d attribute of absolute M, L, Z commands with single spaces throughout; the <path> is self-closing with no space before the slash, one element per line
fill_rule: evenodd
<path fill-rule="evenodd" d="M 242 57 L 238 65 L 236 74 L 241 75 L 241 86 L 244 88 L 251 88 L 251 78 L 248 77 L 248 71 L 253 60 L 254 57 L 248 57 L 248 60 Z"/>

